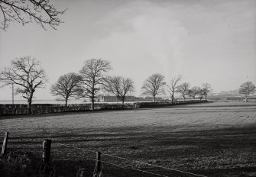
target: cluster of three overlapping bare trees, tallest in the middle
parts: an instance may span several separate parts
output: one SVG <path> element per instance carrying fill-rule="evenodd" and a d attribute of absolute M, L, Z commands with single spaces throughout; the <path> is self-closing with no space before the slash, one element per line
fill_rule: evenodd
<path fill-rule="evenodd" d="M 109 61 L 102 59 L 87 60 L 79 70 L 79 74 L 68 73 L 60 76 L 60 79 L 51 86 L 52 95 L 62 96 L 67 101 L 71 97 L 89 98 L 92 102 L 92 110 L 96 96 L 100 90 L 109 92 L 125 102 L 128 92 L 134 91 L 134 82 L 122 76 L 107 76 L 107 72 L 112 69 Z"/>

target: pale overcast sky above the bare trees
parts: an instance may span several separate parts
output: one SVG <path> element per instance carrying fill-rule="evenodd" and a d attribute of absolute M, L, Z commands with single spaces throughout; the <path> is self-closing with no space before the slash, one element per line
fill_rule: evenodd
<path fill-rule="evenodd" d="M 51 1 L 65 21 L 57 31 L 37 24 L 11 24 L 0 31 L 0 68 L 19 56 L 41 60 L 49 82 L 35 98 L 50 99 L 50 85 L 85 60 L 112 63 L 112 75 L 134 79 L 141 94 L 144 79 L 156 72 L 168 82 L 209 82 L 213 92 L 256 84 L 256 1 Z M 19 99 L 19 96 L 15 96 Z M 0 89 L 11 100 L 11 89 Z"/>

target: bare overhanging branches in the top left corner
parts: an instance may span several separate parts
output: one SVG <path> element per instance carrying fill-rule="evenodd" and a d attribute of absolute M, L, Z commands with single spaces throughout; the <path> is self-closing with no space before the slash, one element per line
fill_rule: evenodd
<path fill-rule="evenodd" d="M 45 28 L 48 24 L 53 29 L 63 23 L 58 18 L 64 11 L 57 11 L 49 0 L 0 0 L 0 10 L 2 19 L 0 28 L 6 30 L 11 21 L 16 21 L 22 25 L 35 21 Z"/>

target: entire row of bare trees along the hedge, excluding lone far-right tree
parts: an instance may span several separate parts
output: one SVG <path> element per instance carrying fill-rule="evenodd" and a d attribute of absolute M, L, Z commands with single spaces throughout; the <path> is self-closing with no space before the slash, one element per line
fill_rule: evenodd
<path fill-rule="evenodd" d="M 51 86 L 50 93 L 64 98 L 66 105 L 70 98 L 89 98 L 92 110 L 94 110 L 96 96 L 99 95 L 99 91 L 103 90 L 115 95 L 124 105 L 125 97 L 134 92 L 134 81 L 123 76 L 108 76 L 111 69 L 111 64 L 107 60 L 86 60 L 79 73 L 71 72 L 60 76 L 57 82 Z M 186 95 L 190 95 L 192 98 L 195 98 L 196 95 L 199 95 L 200 98 L 203 96 L 207 98 L 207 93 L 210 91 L 209 84 L 203 84 L 203 88 L 193 87 L 190 89 L 187 82 L 178 85 L 180 80 L 181 76 L 173 77 L 170 84 L 167 85 L 164 76 L 153 74 L 144 81 L 141 88 L 142 94 L 152 96 L 155 101 L 157 95 L 165 94 L 167 86 L 172 101 L 175 93 L 180 93 L 184 100 Z M 31 113 L 34 92 L 37 88 L 44 88 L 47 76 L 38 60 L 31 56 L 24 56 L 12 60 L 11 66 L 5 67 L 0 72 L 0 82 L 3 82 L 2 86 L 15 84 L 16 94 L 21 94 L 28 100 L 28 110 Z"/>

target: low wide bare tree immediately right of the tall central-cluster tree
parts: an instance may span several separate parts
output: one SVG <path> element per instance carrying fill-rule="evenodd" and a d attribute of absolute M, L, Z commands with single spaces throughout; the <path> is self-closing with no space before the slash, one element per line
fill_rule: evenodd
<path fill-rule="evenodd" d="M 125 97 L 128 92 L 134 91 L 134 82 L 131 79 L 122 76 L 112 76 L 106 80 L 104 89 L 115 95 L 122 101 L 122 105 L 124 105 Z"/>

